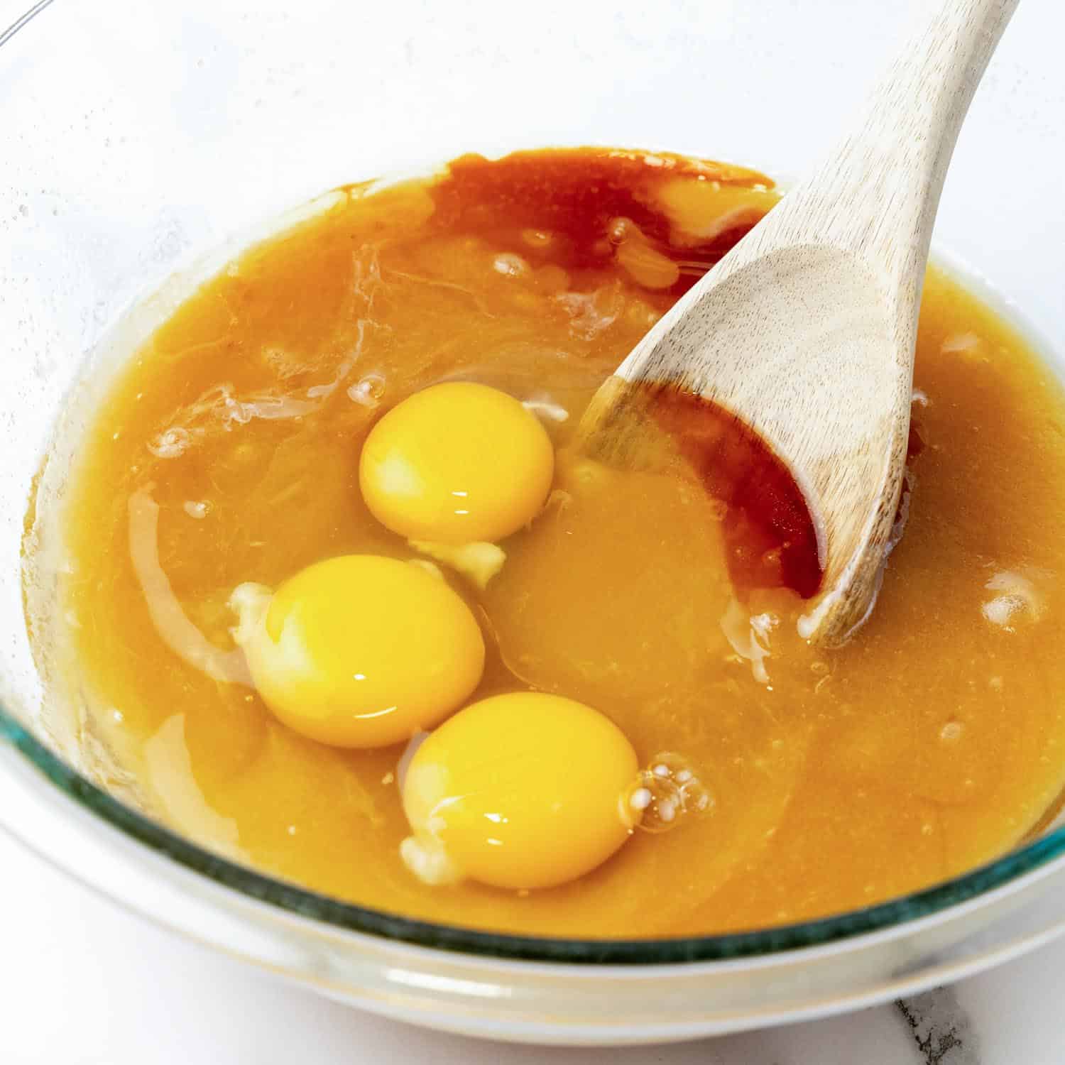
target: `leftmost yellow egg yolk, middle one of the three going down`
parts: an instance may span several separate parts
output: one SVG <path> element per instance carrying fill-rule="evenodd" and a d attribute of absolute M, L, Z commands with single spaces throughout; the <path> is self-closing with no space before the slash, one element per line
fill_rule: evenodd
<path fill-rule="evenodd" d="M 308 567 L 271 594 L 241 585 L 234 629 L 263 701 L 335 747 L 384 747 L 431 728 L 480 681 L 485 642 L 438 575 L 373 555 Z"/>

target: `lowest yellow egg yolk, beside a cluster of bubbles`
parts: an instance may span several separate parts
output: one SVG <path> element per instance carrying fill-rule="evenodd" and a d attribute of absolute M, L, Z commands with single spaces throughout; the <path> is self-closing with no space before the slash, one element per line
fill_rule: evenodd
<path fill-rule="evenodd" d="M 554 887 L 605 862 L 632 833 L 639 767 L 622 732 L 559 695 L 518 692 L 460 710 L 417 749 L 403 785 L 425 880 Z"/>

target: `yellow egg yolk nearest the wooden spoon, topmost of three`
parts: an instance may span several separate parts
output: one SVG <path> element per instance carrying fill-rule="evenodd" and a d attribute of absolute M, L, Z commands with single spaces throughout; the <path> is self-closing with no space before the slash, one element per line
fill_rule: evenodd
<path fill-rule="evenodd" d="M 359 485 L 374 517 L 412 540 L 495 541 L 531 521 L 555 456 L 517 399 L 454 381 L 416 392 L 374 426 Z"/>

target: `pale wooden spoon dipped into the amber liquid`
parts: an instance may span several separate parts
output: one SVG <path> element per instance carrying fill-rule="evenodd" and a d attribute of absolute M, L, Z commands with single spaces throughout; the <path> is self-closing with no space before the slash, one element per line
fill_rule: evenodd
<path fill-rule="evenodd" d="M 712 400 L 789 466 L 818 529 L 801 635 L 832 645 L 876 597 L 902 484 L 917 312 L 962 119 L 1018 0 L 948 0 L 853 132 L 682 297 L 596 393 L 591 454 L 639 446 L 641 395 Z M 643 426 L 645 433 L 645 426 Z"/>

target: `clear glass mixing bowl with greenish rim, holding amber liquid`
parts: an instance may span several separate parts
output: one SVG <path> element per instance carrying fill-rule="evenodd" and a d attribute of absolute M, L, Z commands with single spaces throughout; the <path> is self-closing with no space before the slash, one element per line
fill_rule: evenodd
<path fill-rule="evenodd" d="M 531 939 L 343 904 L 133 808 L 120 767 L 44 698 L 24 630 L 32 478 L 86 359 L 138 297 L 177 275 L 146 305 L 158 315 L 207 268 L 198 257 L 280 211 L 469 150 L 618 144 L 802 173 L 925 4 L 44 0 L 20 19 L 24 2 L 0 0 L 0 824 L 130 908 L 327 995 L 513 1039 L 650 1042 L 825 1014 L 1065 928 L 1053 826 L 931 890 L 736 935 Z M 937 237 L 1060 372 L 1039 339 L 1065 338 L 1065 16 L 1050 9 L 1021 4 L 1005 35 Z"/>

